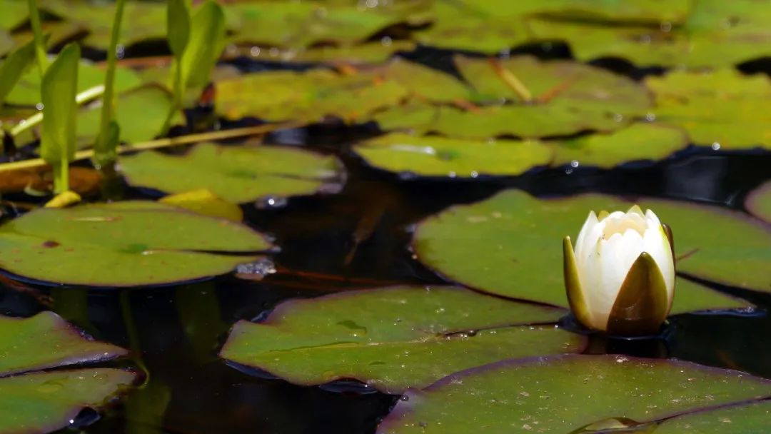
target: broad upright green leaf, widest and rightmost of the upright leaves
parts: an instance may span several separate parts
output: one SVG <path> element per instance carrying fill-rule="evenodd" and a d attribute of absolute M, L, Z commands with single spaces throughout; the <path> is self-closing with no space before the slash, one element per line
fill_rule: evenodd
<path fill-rule="evenodd" d="M 220 5 L 209 0 L 198 8 L 191 22 L 190 41 L 180 62 L 185 87 L 206 86 L 224 41 L 225 14 Z"/>

